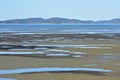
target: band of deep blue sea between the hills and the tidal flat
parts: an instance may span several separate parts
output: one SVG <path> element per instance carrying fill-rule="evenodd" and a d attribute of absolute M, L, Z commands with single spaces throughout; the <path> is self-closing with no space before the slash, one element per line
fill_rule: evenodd
<path fill-rule="evenodd" d="M 18 33 L 120 33 L 120 24 L 0 24 L 0 32 Z"/>

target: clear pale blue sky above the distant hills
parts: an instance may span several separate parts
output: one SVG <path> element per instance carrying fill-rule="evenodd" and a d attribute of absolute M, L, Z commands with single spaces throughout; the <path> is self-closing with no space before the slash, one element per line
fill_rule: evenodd
<path fill-rule="evenodd" d="M 120 18 L 120 0 L 0 0 L 0 20 L 34 17 Z"/>

